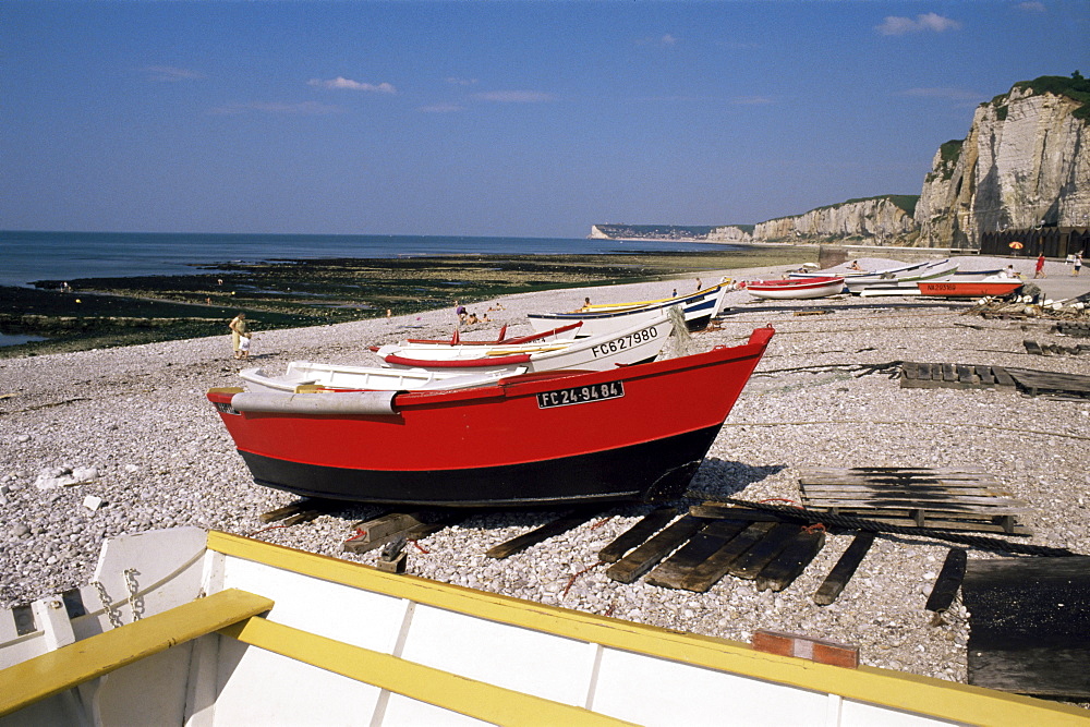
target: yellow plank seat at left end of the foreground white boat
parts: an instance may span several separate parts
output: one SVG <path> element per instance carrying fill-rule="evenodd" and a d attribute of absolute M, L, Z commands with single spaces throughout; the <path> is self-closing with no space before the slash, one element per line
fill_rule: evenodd
<path fill-rule="evenodd" d="M 229 589 L 0 670 L 0 717 L 272 608 Z"/>

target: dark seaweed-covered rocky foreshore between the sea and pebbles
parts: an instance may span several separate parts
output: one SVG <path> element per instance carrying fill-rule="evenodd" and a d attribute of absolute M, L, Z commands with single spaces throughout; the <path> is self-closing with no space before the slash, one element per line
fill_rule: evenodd
<path fill-rule="evenodd" d="M 0 347 L 0 358 L 213 336 L 239 311 L 264 329 L 412 315 L 497 295 L 647 282 L 706 269 L 802 263 L 774 252 L 462 254 L 279 259 L 210 272 L 73 279 L 69 292 L 0 288 L 0 332 L 47 340 Z M 41 282 L 41 281 L 39 281 Z M 59 284 L 59 283 L 58 283 Z M 206 315 L 202 315 L 202 314 Z"/>

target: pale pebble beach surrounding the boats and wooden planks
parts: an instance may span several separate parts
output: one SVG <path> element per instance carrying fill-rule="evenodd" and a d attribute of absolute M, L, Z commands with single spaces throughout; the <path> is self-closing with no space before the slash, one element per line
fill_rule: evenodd
<path fill-rule="evenodd" d="M 961 269 L 1009 260 L 958 258 Z M 881 260 L 861 260 L 879 264 Z M 1028 279 L 1033 260 L 1016 267 Z M 710 270 L 706 282 L 777 278 L 791 266 Z M 797 267 L 797 266 L 795 266 Z M 1069 275 L 1050 262 L 1050 275 Z M 529 334 L 528 313 L 689 292 L 693 278 L 571 288 L 468 304 L 492 322 L 463 338 Z M 1034 545 L 1090 554 L 1090 400 L 1026 397 L 1001 389 L 901 388 L 898 361 L 992 364 L 1090 375 L 1090 355 L 1037 356 L 1022 341 L 1070 346 L 1049 320 L 985 319 L 968 305 L 932 299 L 754 301 L 731 291 L 720 328 L 693 334 L 689 351 L 737 346 L 761 326 L 776 335 L 727 419 L 686 500 L 723 497 L 798 502 L 808 468 L 924 467 L 986 472 L 1029 504 Z M 799 307 L 829 308 L 799 316 Z M 225 320 L 225 331 L 226 329 Z M 253 483 L 219 416 L 211 387 L 239 386 L 238 372 L 279 374 L 289 361 L 377 365 L 373 344 L 447 338 L 451 308 L 331 326 L 261 329 L 251 360 L 232 359 L 227 335 L 146 346 L 0 360 L 0 607 L 92 580 L 104 538 L 179 525 L 222 530 L 337 558 L 353 523 L 379 512 L 344 506 L 291 528 L 270 528 L 266 511 L 296 498 Z M 666 355 L 685 353 L 679 344 Z M 426 446 L 426 445 L 425 445 Z M 623 505 L 504 560 L 492 546 L 559 512 L 473 514 L 415 546 L 408 572 L 615 618 L 748 642 L 758 629 L 859 647 L 876 667 L 965 682 L 968 614 L 959 601 L 943 614 L 924 608 L 952 544 L 881 535 L 840 597 L 812 596 L 851 541 L 831 531 L 824 549 L 788 589 L 759 592 L 726 577 L 707 593 L 620 584 L 598 550 L 651 506 Z M 969 559 L 998 557 L 968 548 Z"/>

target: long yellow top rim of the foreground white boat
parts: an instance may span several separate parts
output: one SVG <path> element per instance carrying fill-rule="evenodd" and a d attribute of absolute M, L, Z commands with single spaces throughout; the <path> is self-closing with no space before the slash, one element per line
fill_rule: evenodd
<path fill-rule="evenodd" d="M 340 560 L 221 532 L 208 547 L 228 556 L 492 621 L 658 658 L 970 724 L 1090 724 L 1090 712 L 1020 694 L 861 666 L 857 669 L 753 651 L 749 644 L 547 606 Z"/>

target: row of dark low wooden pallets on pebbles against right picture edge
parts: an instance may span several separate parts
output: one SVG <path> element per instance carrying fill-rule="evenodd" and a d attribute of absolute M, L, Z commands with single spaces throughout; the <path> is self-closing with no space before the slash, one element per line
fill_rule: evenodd
<path fill-rule="evenodd" d="M 900 365 L 901 388 L 1019 390 L 1029 396 L 1090 399 L 1090 376 L 1010 366 L 915 363 Z"/>

